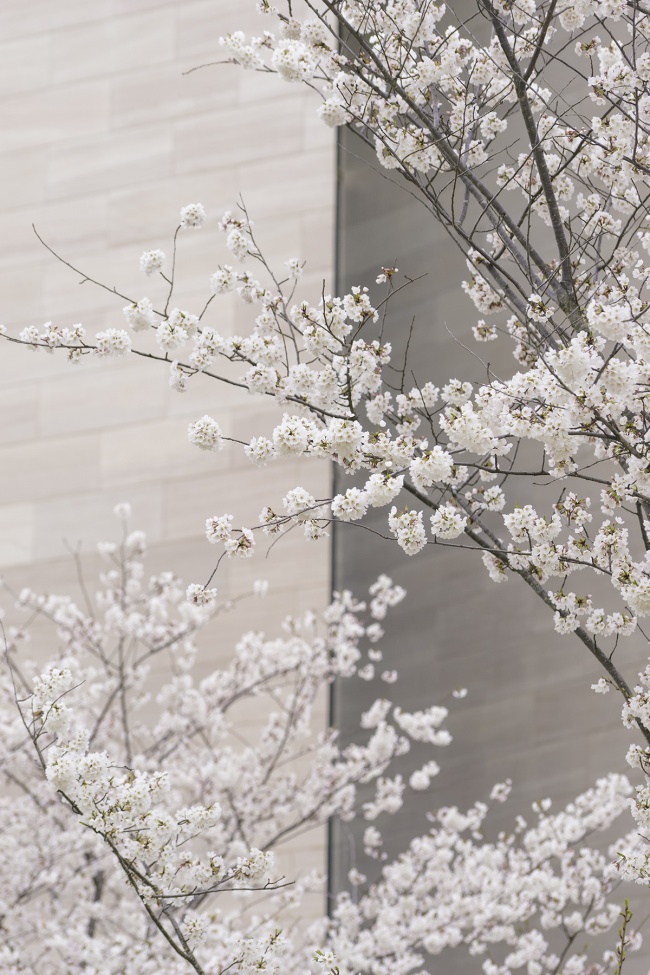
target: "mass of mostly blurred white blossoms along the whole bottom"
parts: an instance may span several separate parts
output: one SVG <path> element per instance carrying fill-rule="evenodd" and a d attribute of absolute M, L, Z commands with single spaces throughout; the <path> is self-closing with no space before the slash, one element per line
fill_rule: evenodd
<path fill-rule="evenodd" d="M 447 709 L 407 713 L 379 697 L 345 746 L 314 727 L 313 712 L 332 680 L 357 679 L 381 659 L 380 621 L 404 591 L 382 576 L 367 603 L 338 594 L 322 617 L 288 619 L 281 637 L 245 634 L 232 660 L 209 671 L 201 634 L 218 628 L 227 604 L 215 590 L 205 600 L 199 586 L 186 593 L 173 573 L 147 577 L 145 537 L 129 530 L 127 506 L 117 510 L 124 534 L 100 546 L 102 586 L 86 608 L 24 590 L 23 622 L 6 629 L 3 972 L 304 975 L 335 959 L 346 975 L 383 975 L 419 971 L 457 946 L 486 975 L 520 959 L 532 975 L 560 958 L 574 975 L 610 971 L 622 910 L 617 861 L 625 856 L 629 871 L 643 848 L 633 837 L 609 853 L 590 844 L 630 802 L 623 776 L 599 780 L 559 812 L 536 804 L 530 822 L 518 817 L 492 842 L 482 836 L 488 802 L 439 807 L 390 861 L 382 829 L 407 788 L 394 761 L 411 741 L 448 745 Z M 35 620 L 58 644 L 45 667 L 30 659 Z M 154 663 L 162 681 L 153 681 Z M 237 715 L 246 701 L 260 725 L 244 738 Z M 428 788 L 438 772 L 428 757 L 410 787 Z M 495 786 L 490 801 L 505 801 L 510 787 Z M 330 917 L 281 934 L 286 912 L 322 891 L 322 878 L 284 873 L 282 844 L 332 816 L 365 819 L 363 847 L 380 879 L 368 883 L 355 867 L 354 898 L 341 894 Z M 601 932 L 610 932 L 604 956 L 588 948 Z M 640 934 L 629 927 L 623 941 L 638 947 Z"/>

